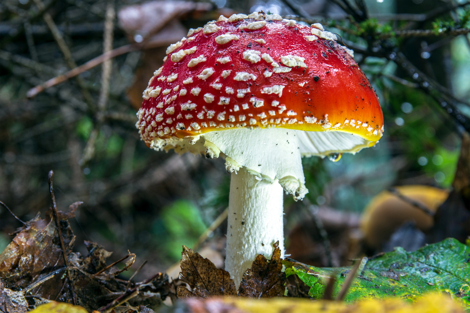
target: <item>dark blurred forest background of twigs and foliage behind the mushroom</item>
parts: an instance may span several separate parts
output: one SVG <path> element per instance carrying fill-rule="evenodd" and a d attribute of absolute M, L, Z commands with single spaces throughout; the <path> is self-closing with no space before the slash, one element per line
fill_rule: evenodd
<path fill-rule="evenodd" d="M 226 208 L 230 181 L 223 160 L 156 153 L 139 140 L 134 126 L 141 92 L 162 64 L 166 46 L 186 36 L 188 28 L 202 26 L 221 14 L 263 10 L 303 15 L 323 23 L 345 44 L 359 47 L 354 58 L 376 89 L 384 111 L 384 137 L 373 148 L 343 155 L 337 162 L 303 160 L 307 200 L 313 206 L 285 197 L 289 253 L 300 253 L 294 244 L 305 243 L 310 245 L 306 249 L 310 254 L 304 256 L 311 262 L 318 259 L 315 265 L 348 265 L 348 258 L 361 253 L 356 243 L 361 236 L 360 214 L 376 194 L 407 184 L 451 187 L 464 132 L 463 124 L 455 122 L 455 114 L 470 118 L 469 35 L 400 37 L 395 32 L 419 29 L 439 34 L 468 28 L 468 2 L 117 0 L 112 2 L 117 16 L 111 19 L 113 48 L 143 39 L 151 45 L 111 59 L 105 108 L 97 108 L 103 87 L 101 66 L 27 98 L 33 86 L 71 69 L 44 13 L 57 25 L 72 60 L 82 65 L 103 53 L 109 3 L 0 2 L 0 199 L 24 221 L 38 211 L 44 214 L 50 205 L 47 172 L 53 169 L 59 209 L 84 201 L 72 220 L 76 249 L 82 254 L 86 249 L 80 243 L 91 240 L 114 251 L 115 260 L 127 249 L 137 254 L 137 266 L 148 260 L 139 275 L 164 271 L 180 259 L 181 244 L 195 244 Z M 154 4 L 146 14 L 140 6 L 149 3 Z M 354 20 L 341 8 L 342 3 L 352 7 L 365 3 L 368 16 Z M 140 8 L 135 11 L 138 22 L 133 20 L 131 13 L 135 12 L 130 6 Z M 378 41 L 380 36 L 389 39 Z M 383 48 L 381 42 L 398 47 L 416 68 L 462 99 L 454 105 L 459 112 L 442 108 L 442 103 L 439 106 L 436 96 L 420 88 L 399 62 L 377 56 Z M 322 244 L 318 223 L 300 231 L 305 216 L 311 219 L 312 214 L 327 229 L 330 248 Z M 0 251 L 12 238 L 8 233 L 18 226 L 0 208 Z M 203 248 L 219 253 L 221 260 L 226 228 L 222 222 Z M 325 249 L 332 249 L 329 257 Z M 334 260 L 327 260 L 331 258 Z"/>

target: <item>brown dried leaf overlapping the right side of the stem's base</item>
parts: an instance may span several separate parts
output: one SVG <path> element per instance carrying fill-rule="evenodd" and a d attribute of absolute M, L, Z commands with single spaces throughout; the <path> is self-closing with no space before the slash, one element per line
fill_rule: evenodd
<path fill-rule="evenodd" d="M 258 254 L 243 275 L 238 295 L 249 298 L 271 298 L 284 296 L 286 275 L 282 272 L 281 250 L 279 241 L 273 244 L 274 252 L 271 260 Z"/>

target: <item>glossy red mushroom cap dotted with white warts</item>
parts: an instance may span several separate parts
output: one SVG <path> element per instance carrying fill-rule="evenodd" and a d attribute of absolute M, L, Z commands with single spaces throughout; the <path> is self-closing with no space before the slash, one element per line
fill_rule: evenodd
<path fill-rule="evenodd" d="M 190 30 L 168 47 L 143 93 L 142 139 L 282 127 L 342 131 L 373 144 L 384 124 L 374 89 L 352 51 L 312 26 L 253 13 Z"/>

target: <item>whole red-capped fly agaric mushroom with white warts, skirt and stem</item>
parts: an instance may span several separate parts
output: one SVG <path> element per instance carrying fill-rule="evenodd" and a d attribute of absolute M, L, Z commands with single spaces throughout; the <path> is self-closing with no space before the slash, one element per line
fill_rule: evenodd
<path fill-rule="evenodd" d="M 356 153 L 382 136 L 377 96 L 321 24 L 235 14 L 168 47 L 136 127 L 155 150 L 225 156 L 231 173 L 225 269 L 238 285 L 258 254 L 284 253 L 282 189 L 308 190 L 301 156 Z"/>

